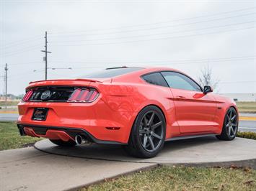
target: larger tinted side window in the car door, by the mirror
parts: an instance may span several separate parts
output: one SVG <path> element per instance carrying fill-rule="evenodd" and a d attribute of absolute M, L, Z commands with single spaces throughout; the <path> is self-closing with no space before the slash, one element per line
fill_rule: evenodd
<path fill-rule="evenodd" d="M 162 72 L 162 75 L 164 76 L 164 79 L 167 81 L 169 87 L 171 88 L 202 91 L 197 83 L 195 83 L 193 80 L 191 80 L 185 75 L 175 72 Z"/>

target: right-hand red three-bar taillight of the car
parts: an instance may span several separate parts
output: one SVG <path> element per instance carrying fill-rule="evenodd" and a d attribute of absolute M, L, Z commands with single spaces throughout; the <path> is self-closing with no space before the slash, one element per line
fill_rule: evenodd
<path fill-rule="evenodd" d="M 99 95 L 99 92 L 95 89 L 81 89 L 76 88 L 69 97 L 68 101 L 71 102 L 92 102 Z"/>

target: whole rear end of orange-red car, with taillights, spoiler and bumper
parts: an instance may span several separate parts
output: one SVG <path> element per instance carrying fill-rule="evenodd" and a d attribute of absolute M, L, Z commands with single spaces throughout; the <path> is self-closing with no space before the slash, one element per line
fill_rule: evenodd
<path fill-rule="evenodd" d="M 74 141 L 81 135 L 102 144 L 127 143 L 133 115 L 113 109 L 105 100 L 110 82 L 78 79 L 30 83 L 18 104 L 19 133 L 62 141 Z"/>

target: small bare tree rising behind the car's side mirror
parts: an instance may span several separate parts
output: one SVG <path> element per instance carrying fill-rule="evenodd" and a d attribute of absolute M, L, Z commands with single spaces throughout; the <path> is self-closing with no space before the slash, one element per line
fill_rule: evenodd
<path fill-rule="evenodd" d="M 219 79 L 213 79 L 213 73 L 209 65 L 201 70 L 201 76 L 198 78 L 198 81 L 202 87 L 211 85 L 213 89 L 216 89 L 219 85 Z"/>

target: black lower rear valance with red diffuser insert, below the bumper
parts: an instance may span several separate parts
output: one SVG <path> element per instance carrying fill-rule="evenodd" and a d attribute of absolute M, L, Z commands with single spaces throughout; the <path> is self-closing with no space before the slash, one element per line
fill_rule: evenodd
<path fill-rule="evenodd" d="M 60 127 L 60 126 L 35 126 L 28 124 L 17 124 L 18 129 L 22 129 L 27 136 L 45 137 L 48 139 L 61 139 L 63 141 L 74 141 L 77 134 L 85 136 L 89 141 L 97 144 L 124 144 L 118 141 L 103 141 L 95 138 L 84 129 Z"/>

